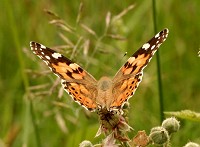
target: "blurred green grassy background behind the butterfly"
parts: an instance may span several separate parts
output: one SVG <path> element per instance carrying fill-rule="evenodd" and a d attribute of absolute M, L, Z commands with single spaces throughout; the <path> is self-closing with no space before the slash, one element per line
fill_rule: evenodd
<path fill-rule="evenodd" d="M 107 13 L 113 18 L 132 4 L 134 8 L 108 28 L 110 34 L 123 37 L 101 39 Z M 170 30 L 159 52 L 165 111 L 200 110 L 199 6 L 199 0 L 156 1 L 157 31 L 165 27 Z M 44 9 L 55 12 L 76 28 L 74 33 L 50 24 L 52 18 Z M 96 79 L 113 76 L 155 34 L 152 1 L 1 0 L 0 12 L 0 146 L 68 147 L 78 146 L 83 140 L 98 143 L 103 136 L 94 138 L 99 127 L 97 115 L 85 111 L 66 93 L 62 94 L 56 76 L 31 53 L 29 42 L 49 47 L 66 45 L 61 51 L 70 57 L 74 48 L 61 39 L 61 32 L 77 46 L 75 62 Z M 83 29 L 81 24 L 96 35 Z M 88 46 L 81 46 L 87 41 Z M 125 52 L 127 55 L 123 57 Z M 129 124 L 135 130 L 130 136 L 138 130 L 149 133 L 152 127 L 160 125 L 158 99 L 154 57 L 129 100 Z M 172 146 L 183 146 L 188 141 L 200 143 L 199 123 L 180 121 L 181 128 L 172 136 Z"/>

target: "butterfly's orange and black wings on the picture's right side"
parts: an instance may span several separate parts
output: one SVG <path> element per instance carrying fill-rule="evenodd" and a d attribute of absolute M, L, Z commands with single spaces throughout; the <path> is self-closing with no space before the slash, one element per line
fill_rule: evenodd
<path fill-rule="evenodd" d="M 152 39 L 139 48 L 120 68 L 113 78 L 114 102 L 111 108 L 119 108 L 130 98 L 142 81 L 143 69 L 150 62 L 159 46 L 166 40 L 168 29 L 156 34 Z"/>

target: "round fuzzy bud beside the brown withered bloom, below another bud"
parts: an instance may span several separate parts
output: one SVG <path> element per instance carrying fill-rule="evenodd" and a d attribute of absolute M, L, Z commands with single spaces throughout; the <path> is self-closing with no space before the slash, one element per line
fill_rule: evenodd
<path fill-rule="evenodd" d="M 152 128 L 149 138 L 155 145 L 163 145 L 169 141 L 168 132 L 163 127 Z"/>

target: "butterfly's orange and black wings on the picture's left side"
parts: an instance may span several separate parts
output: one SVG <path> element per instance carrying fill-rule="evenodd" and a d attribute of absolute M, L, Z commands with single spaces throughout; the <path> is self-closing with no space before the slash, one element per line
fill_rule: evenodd
<path fill-rule="evenodd" d="M 96 109 L 97 81 L 92 75 L 78 64 L 42 44 L 30 42 L 30 46 L 33 53 L 62 79 L 63 88 L 76 102 L 88 110 Z"/>

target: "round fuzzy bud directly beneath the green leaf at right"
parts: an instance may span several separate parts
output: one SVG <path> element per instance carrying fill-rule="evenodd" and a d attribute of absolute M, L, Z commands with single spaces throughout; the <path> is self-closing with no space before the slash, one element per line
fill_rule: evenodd
<path fill-rule="evenodd" d="M 162 127 L 165 128 L 169 134 L 177 132 L 180 128 L 179 121 L 176 118 L 167 118 L 162 122 Z"/>

